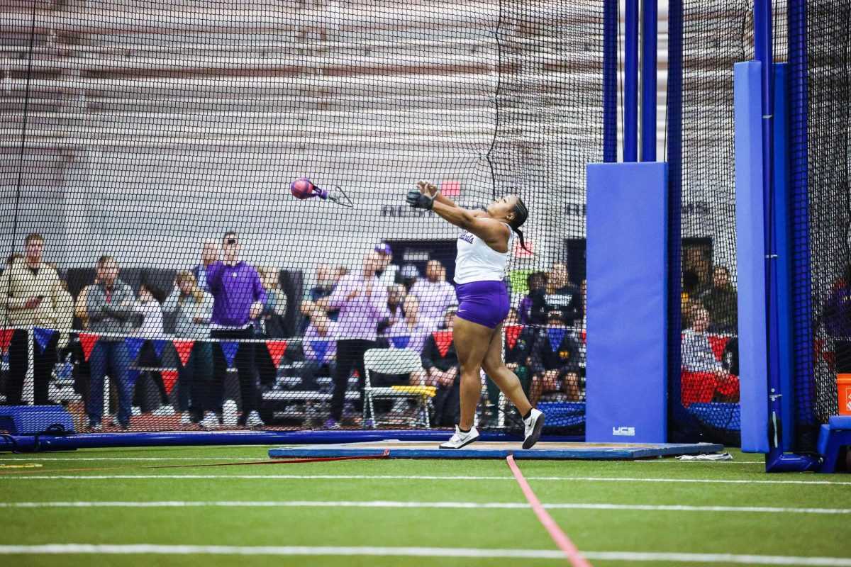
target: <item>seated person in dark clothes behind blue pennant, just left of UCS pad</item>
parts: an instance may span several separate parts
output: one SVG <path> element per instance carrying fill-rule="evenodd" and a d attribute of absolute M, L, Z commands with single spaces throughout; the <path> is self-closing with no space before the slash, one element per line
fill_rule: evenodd
<path fill-rule="evenodd" d="M 550 311 L 546 315 L 546 326 L 537 330 L 531 364 L 529 400 L 532 405 L 537 404 L 545 392 L 563 391 L 568 400 L 580 400 L 580 347 L 567 327 L 562 309 Z"/>

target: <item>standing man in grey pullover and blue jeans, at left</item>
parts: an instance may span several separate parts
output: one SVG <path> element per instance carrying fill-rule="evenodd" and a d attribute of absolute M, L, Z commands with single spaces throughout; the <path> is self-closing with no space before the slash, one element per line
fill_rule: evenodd
<path fill-rule="evenodd" d="M 89 332 L 98 337 L 89 356 L 91 376 L 86 413 L 89 428 L 99 430 L 104 410 L 104 378 L 107 374 L 118 393 L 118 414 L 111 425 L 123 429 L 130 427 L 130 399 L 133 384 L 130 382 L 130 354 L 124 337 L 133 329 L 136 302 L 133 290 L 118 279 L 118 263 L 111 256 L 101 256 L 97 264 L 97 282 L 86 292 L 86 314 Z"/>

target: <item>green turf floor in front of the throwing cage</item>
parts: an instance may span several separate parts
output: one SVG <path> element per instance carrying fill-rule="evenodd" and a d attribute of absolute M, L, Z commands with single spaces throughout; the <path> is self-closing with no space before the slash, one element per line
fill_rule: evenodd
<path fill-rule="evenodd" d="M 33 549 L 33 553 L 0 554 L 0 564 L 212 567 L 566 563 L 557 558 L 371 555 L 364 549 L 385 550 L 377 553 L 391 553 L 386 551 L 388 547 L 556 551 L 551 537 L 526 505 L 511 470 L 501 460 L 146 468 L 213 463 L 219 459 L 266 460 L 267 449 L 203 447 L 0 455 L 0 463 L 7 467 L 0 468 L 0 548 L 49 544 L 205 546 L 185 555 L 174 554 L 173 547 L 168 548 L 167 554 L 156 555 L 54 555 L 43 553 L 44 548 L 39 547 L 37 553 Z M 768 475 L 762 472 L 759 456 L 731 452 L 733 462 L 520 461 L 519 467 L 545 505 L 602 505 L 549 509 L 552 518 L 580 550 L 588 553 L 594 565 L 686 564 L 700 559 L 694 554 L 718 553 L 734 554 L 731 559 L 740 564 L 768 564 L 768 560 L 761 563 L 759 558 L 748 559 L 745 555 L 780 557 L 772 559 L 774 564 L 794 564 L 782 559 L 791 557 L 837 559 L 833 563 L 799 564 L 845 564 L 839 560 L 851 558 L 848 475 Z M 24 463 L 42 467 L 8 468 Z M 77 468 L 93 470 L 68 470 Z M 24 472 L 31 470 L 44 472 Z M 60 502 L 116 505 L 57 506 Z M 132 506 L 140 502 L 171 503 Z M 208 505 L 191 506 L 197 502 Z M 228 502 L 242 504 L 225 505 Z M 278 504 L 267 506 L 269 502 Z M 314 502 L 340 505 L 307 505 Z M 354 502 L 372 502 L 373 507 L 352 506 Z M 397 504 L 387 507 L 375 502 Z M 403 507 L 400 502 L 421 504 Z M 435 502 L 465 502 L 471 507 L 426 506 Z M 36 503 L 50 505 L 37 507 Z M 349 505 L 344 506 L 346 503 Z M 499 503 L 515 507 L 475 506 Z M 758 509 L 762 507 L 772 509 Z M 216 555 L 211 554 L 216 548 L 208 546 L 276 549 L 269 552 L 275 553 L 272 555 Z M 281 551 L 280 547 L 291 546 L 355 547 L 357 553 L 367 554 L 311 556 Z M 205 553 L 198 553 L 201 551 Z M 614 559 L 603 555 L 612 552 L 625 555 Z M 430 554 L 427 550 L 425 553 Z M 665 555 L 644 557 L 637 553 L 693 555 L 666 560 Z M 718 558 L 705 559 L 703 564 L 724 564 Z M 847 564 L 851 565 L 851 560 Z"/>

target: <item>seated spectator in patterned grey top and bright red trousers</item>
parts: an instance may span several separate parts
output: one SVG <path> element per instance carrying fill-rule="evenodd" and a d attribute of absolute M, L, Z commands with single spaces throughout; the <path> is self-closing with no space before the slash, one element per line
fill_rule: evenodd
<path fill-rule="evenodd" d="M 683 331 L 683 404 L 694 401 L 739 401 L 739 378 L 724 370 L 709 342 L 709 311 L 695 307 L 691 325 Z"/>

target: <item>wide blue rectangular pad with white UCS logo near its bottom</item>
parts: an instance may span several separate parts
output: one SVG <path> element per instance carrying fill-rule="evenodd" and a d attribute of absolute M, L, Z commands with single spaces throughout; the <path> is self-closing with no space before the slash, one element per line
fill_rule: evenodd
<path fill-rule="evenodd" d="M 587 167 L 585 439 L 667 439 L 667 164 Z"/>

